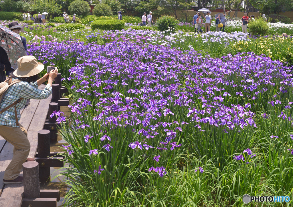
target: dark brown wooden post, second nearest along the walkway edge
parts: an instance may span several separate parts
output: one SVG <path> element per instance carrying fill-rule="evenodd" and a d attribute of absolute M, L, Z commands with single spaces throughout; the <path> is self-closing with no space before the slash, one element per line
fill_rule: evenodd
<path fill-rule="evenodd" d="M 38 157 L 47 158 L 50 156 L 50 140 L 51 135 L 50 131 L 43 129 L 38 131 Z M 42 166 L 45 163 L 41 163 Z M 41 167 L 40 168 L 40 181 L 41 182 L 50 182 L 50 167 Z"/>

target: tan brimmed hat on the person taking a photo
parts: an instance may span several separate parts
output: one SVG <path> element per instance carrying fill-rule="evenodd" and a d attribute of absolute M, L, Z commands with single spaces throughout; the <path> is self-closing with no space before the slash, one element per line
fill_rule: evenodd
<path fill-rule="evenodd" d="M 39 74 L 44 65 L 37 61 L 35 56 L 25 55 L 17 60 L 18 68 L 13 72 L 16 77 L 30 77 Z"/>

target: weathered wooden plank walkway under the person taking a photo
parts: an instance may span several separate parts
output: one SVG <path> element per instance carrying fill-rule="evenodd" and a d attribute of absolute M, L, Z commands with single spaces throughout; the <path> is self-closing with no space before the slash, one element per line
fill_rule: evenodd
<path fill-rule="evenodd" d="M 39 89 L 44 89 L 40 85 Z M 28 132 L 30 141 L 29 158 L 35 158 L 38 148 L 38 131 L 42 130 L 47 118 L 52 95 L 43 100 L 30 100 L 30 105 L 21 110 L 20 124 Z M 23 184 L 3 184 L 2 179 L 8 164 L 13 157 L 13 146 L 0 136 L 0 206 L 20 207 L 23 197 Z"/>

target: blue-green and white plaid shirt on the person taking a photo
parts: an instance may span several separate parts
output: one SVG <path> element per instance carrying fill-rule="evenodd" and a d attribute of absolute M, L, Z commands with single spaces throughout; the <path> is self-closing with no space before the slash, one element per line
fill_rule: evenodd
<path fill-rule="evenodd" d="M 45 99 L 52 93 L 52 87 L 46 85 L 44 90 L 38 89 L 37 81 L 35 83 L 19 82 L 8 88 L 6 94 L 0 103 L 0 110 L 16 102 L 18 99 L 23 98 L 20 103 L 16 104 L 17 117 L 20 119 L 20 110 L 26 104 L 26 100 L 29 99 Z M 14 106 L 0 114 L 0 125 L 16 126 Z"/>

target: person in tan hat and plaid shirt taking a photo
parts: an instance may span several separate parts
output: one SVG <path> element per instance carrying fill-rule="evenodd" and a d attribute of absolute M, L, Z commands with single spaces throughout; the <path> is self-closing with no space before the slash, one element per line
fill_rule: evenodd
<path fill-rule="evenodd" d="M 14 147 L 13 158 L 7 166 L 3 183 L 19 184 L 23 183 L 23 177 L 19 176 L 22 171 L 22 164 L 26 161 L 34 161 L 28 158 L 30 152 L 30 142 L 28 132 L 18 123 L 21 118 L 20 110 L 24 107 L 26 100 L 46 99 L 52 94 L 52 82 L 57 77 L 58 69 L 45 73 L 38 79 L 39 73 L 43 71 L 44 65 L 37 61 L 34 56 L 23 56 L 17 60 L 18 69 L 7 80 L 13 85 L 6 90 L 3 100 L 0 103 L 0 136 L 11 143 Z M 38 86 L 48 81 L 43 90 Z M 15 105 L 16 104 L 16 105 Z M 14 106 L 15 107 L 12 107 Z"/>

